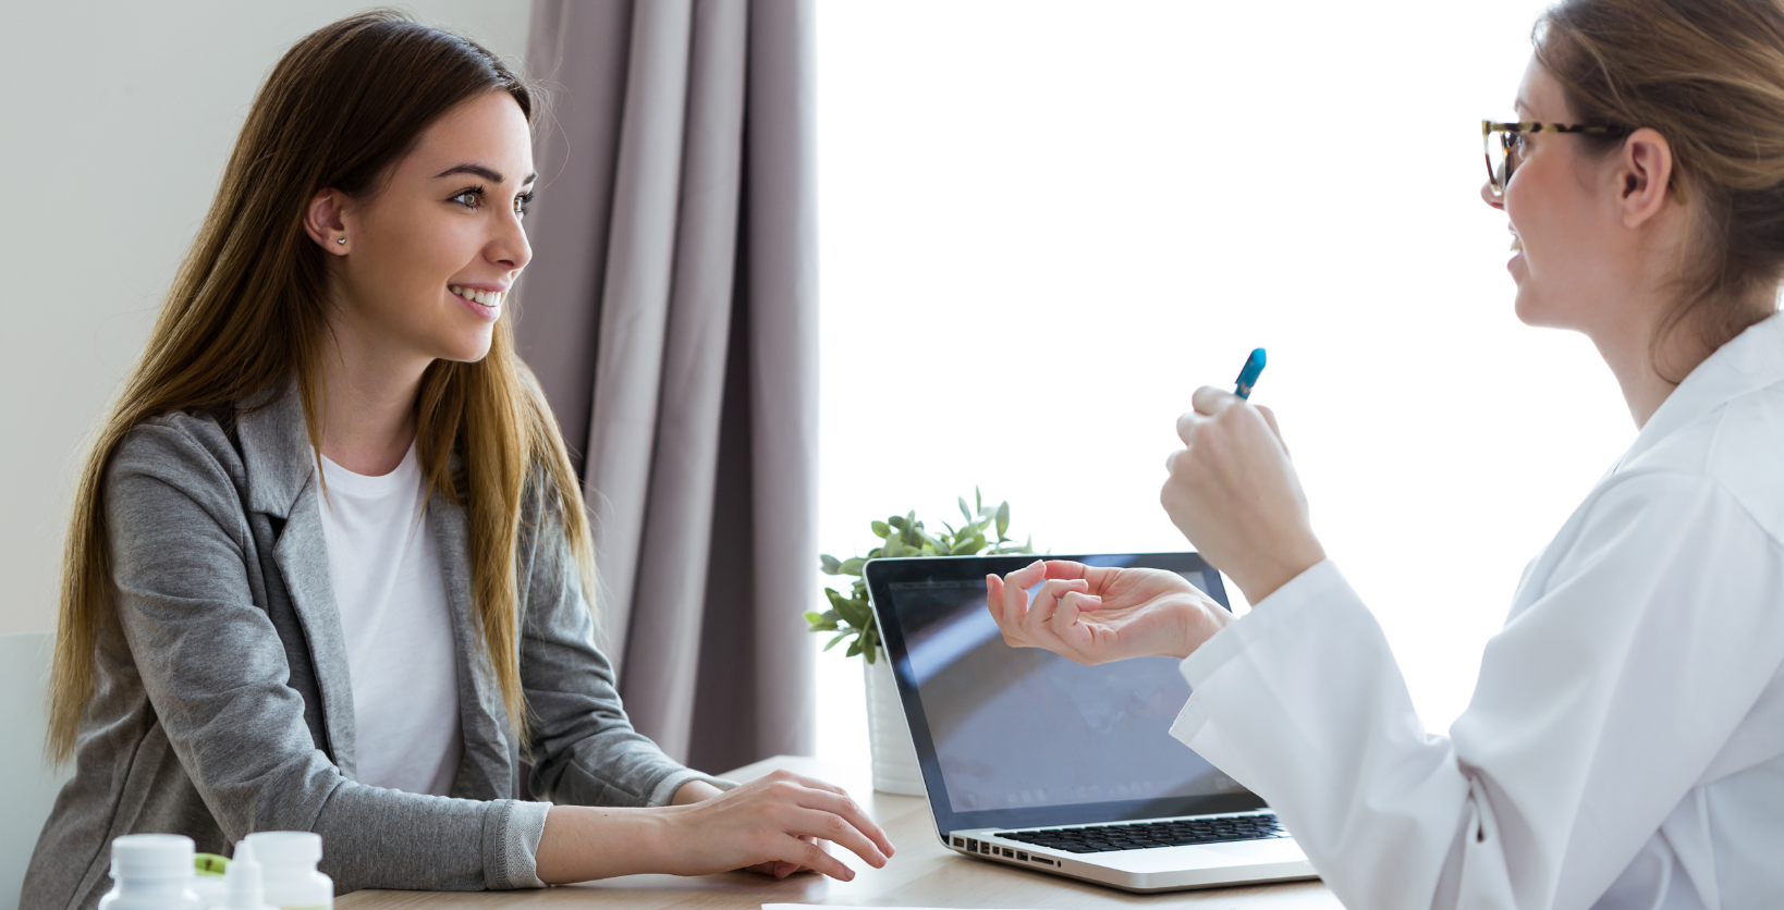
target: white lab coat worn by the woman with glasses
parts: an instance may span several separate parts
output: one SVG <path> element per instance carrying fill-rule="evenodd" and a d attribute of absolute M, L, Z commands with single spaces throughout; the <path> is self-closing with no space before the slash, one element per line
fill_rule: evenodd
<path fill-rule="evenodd" d="M 1449 737 L 1331 560 L 1183 662 L 1172 735 L 1263 796 L 1345 906 L 1784 906 L 1780 541 L 1772 316 L 1531 562 Z"/>

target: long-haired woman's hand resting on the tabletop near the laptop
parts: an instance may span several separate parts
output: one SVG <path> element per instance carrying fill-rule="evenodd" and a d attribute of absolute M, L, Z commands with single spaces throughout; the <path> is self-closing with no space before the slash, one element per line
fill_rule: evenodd
<path fill-rule="evenodd" d="M 855 878 L 819 840 L 847 848 L 874 869 L 892 856 L 892 840 L 847 792 L 790 771 L 667 812 L 676 846 L 664 871 L 676 874 L 751 869 L 787 878 L 814 869 Z"/>

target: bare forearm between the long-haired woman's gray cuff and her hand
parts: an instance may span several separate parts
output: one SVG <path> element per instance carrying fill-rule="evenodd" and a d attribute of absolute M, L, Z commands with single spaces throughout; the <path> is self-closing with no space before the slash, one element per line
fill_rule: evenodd
<path fill-rule="evenodd" d="M 551 807 L 535 856 L 546 885 L 664 873 L 669 819 L 658 808 Z"/>

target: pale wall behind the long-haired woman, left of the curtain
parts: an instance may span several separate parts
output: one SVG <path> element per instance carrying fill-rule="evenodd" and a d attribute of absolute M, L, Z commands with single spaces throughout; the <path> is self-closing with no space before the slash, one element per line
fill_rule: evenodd
<path fill-rule="evenodd" d="M 0 5 L 0 633 L 55 626 L 86 434 L 137 355 L 260 80 L 350 0 Z M 530 0 L 416 0 L 519 64 Z"/>

